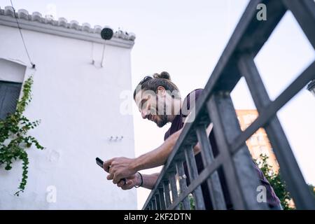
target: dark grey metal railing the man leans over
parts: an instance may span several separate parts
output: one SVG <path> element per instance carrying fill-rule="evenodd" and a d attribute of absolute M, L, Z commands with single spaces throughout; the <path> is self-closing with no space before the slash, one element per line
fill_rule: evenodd
<path fill-rule="evenodd" d="M 267 6 L 267 20 L 257 20 L 257 6 Z M 315 209 L 314 196 L 304 181 L 295 156 L 283 132 L 276 112 L 281 109 L 309 81 L 315 78 L 315 61 L 284 90 L 274 101 L 269 99 L 262 83 L 254 57 L 283 15 L 290 10 L 315 49 L 315 3 L 313 0 L 252 0 L 248 3 L 228 45 L 218 61 L 209 81 L 198 99 L 193 123 L 186 123 L 181 135 L 162 169 L 155 187 L 143 209 L 190 209 L 190 194 L 195 209 L 205 209 L 201 184 L 207 182 L 214 209 L 226 209 L 225 197 L 219 181 L 222 168 L 233 209 L 268 209 L 257 200 L 259 180 L 253 169 L 251 155 L 245 144 L 260 127 L 264 127 L 281 167 L 297 209 Z M 258 118 L 241 132 L 232 104 L 230 92 L 244 76 Z M 219 154 L 214 157 L 206 127 L 213 123 L 214 137 Z M 200 142 L 203 171 L 198 174 L 193 146 Z M 190 184 L 187 186 L 183 162 L 186 162 Z M 177 181 L 178 184 L 177 184 Z M 177 186 L 179 185 L 179 186 Z M 179 188 L 179 190 L 178 190 Z M 172 200 L 171 194 L 172 193 Z"/>

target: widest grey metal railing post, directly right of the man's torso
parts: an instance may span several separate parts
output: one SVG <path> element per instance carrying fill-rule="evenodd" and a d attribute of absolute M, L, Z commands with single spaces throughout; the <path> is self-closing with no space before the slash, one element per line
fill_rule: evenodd
<path fill-rule="evenodd" d="M 257 200 L 256 189 L 261 183 L 246 144 L 235 155 L 230 152 L 229 144 L 241 133 L 230 92 L 214 93 L 207 106 L 219 151 L 225 157 L 223 171 L 234 209 L 267 209 L 266 203 Z"/>

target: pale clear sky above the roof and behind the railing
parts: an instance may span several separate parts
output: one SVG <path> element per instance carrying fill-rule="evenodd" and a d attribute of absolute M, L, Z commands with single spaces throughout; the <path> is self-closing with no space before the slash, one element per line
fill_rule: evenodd
<path fill-rule="evenodd" d="M 146 75 L 168 71 L 184 97 L 204 87 L 248 0 L 13 0 L 15 8 L 38 11 L 80 24 L 109 25 L 133 32 L 132 88 Z M 0 0 L 0 7 L 9 6 Z M 268 9 L 267 9 L 268 19 Z M 315 54 L 293 15 L 288 12 L 255 57 L 255 63 L 271 99 L 283 91 L 314 61 Z M 236 109 L 255 109 L 244 80 L 232 92 Z M 315 184 L 315 97 L 301 90 L 277 113 L 304 179 Z M 143 120 L 134 105 L 136 156 L 160 146 L 169 125 L 158 128 Z M 123 155 L 122 155 L 123 156 Z M 143 173 L 159 171 L 144 170 Z M 141 209 L 150 190 L 138 190 Z"/>

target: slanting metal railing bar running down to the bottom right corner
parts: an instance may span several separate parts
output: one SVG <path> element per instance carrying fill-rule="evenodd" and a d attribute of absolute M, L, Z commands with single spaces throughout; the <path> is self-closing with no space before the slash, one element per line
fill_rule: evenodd
<path fill-rule="evenodd" d="M 255 106 L 260 113 L 260 111 L 263 111 L 265 107 L 271 103 L 271 101 L 251 55 L 243 55 L 239 59 L 239 70 L 246 79 L 246 83 L 248 84 L 248 88 L 253 96 Z M 315 74 L 315 68 L 313 69 L 313 72 Z M 315 209 L 314 197 L 312 197 L 311 192 L 304 181 L 302 172 L 297 165 L 295 156 L 293 155 L 290 144 L 288 143 L 288 139 L 286 139 L 286 135 L 284 134 L 281 124 L 276 116 L 276 111 L 274 111 L 272 120 L 269 120 L 269 122 L 265 125 L 265 130 L 281 167 L 283 179 L 286 181 L 288 190 L 293 196 L 293 200 L 297 208 Z"/>

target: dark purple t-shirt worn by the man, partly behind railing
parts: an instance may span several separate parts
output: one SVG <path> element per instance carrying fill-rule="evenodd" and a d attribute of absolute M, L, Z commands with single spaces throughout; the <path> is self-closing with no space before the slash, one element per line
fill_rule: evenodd
<path fill-rule="evenodd" d="M 183 101 L 183 106 L 182 106 L 182 109 L 181 109 L 179 115 L 177 115 L 174 118 L 174 120 L 172 121 L 171 127 L 169 127 L 169 130 L 167 130 L 167 132 L 165 132 L 164 140 L 166 140 L 170 135 L 172 135 L 174 132 L 180 130 L 183 127 L 184 119 L 188 116 L 191 109 L 193 109 L 195 107 L 195 102 L 197 102 L 197 99 L 201 93 L 202 93 L 202 89 L 197 89 L 197 90 L 193 90 L 193 92 L 190 92 L 190 94 L 187 95 L 187 97 Z M 192 95 L 193 95 L 193 97 L 192 97 Z M 216 145 L 216 139 L 214 137 L 214 131 L 213 130 L 211 131 L 211 133 L 209 135 L 209 141 L 210 141 L 213 153 L 214 153 L 214 157 L 216 157 L 216 155 L 218 155 L 218 146 Z M 198 172 L 202 172 L 202 170 L 204 169 L 204 166 L 203 166 L 203 162 L 202 162 L 201 153 L 197 153 L 195 155 L 195 160 L 196 160 Z M 269 182 L 265 178 L 264 174 L 262 174 L 262 171 L 255 164 L 255 162 L 253 162 L 253 167 L 255 168 L 255 171 L 258 174 L 258 178 L 260 179 L 260 182 L 262 183 L 263 186 L 265 186 L 265 188 L 267 190 L 267 203 L 269 204 L 269 206 L 274 207 L 274 206 L 279 205 L 279 203 L 280 203 L 279 198 L 276 197 L 276 194 L 274 193 L 272 186 L 270 186 Z M 188 175 L 188 171 L 187 171 L 187 167 L 186 167 L 185 162 L 184 162 L 184 168 L 185 168 L 186 176 L 188 177 L 187 178 L 187 184 L 189 185 L 190 180 L 189 180 L 189 175 Z M 219 177 L 221 179 L 221 186 L 223 188 L 223 194 L 225 196 L 225 202 L 227 203 L 227 207 L 229 208 L 232 206 L 232 203 L 231 203 L 230 197 L 228 196 L 228 188 L 227 188 L 225 180 L 223 178 L 224 174 L 223 174 L 222 170 L 218 170 L 218 174 L 219 174 Z M 207 197 L 210 197 L 209 196 L 209 190 L 207 188 L 207 183 L 203 183 L 202 193 L 204 195 L 206 209 L 211 209 L 211 202 L 209 200 L 207 200 Z"/>

